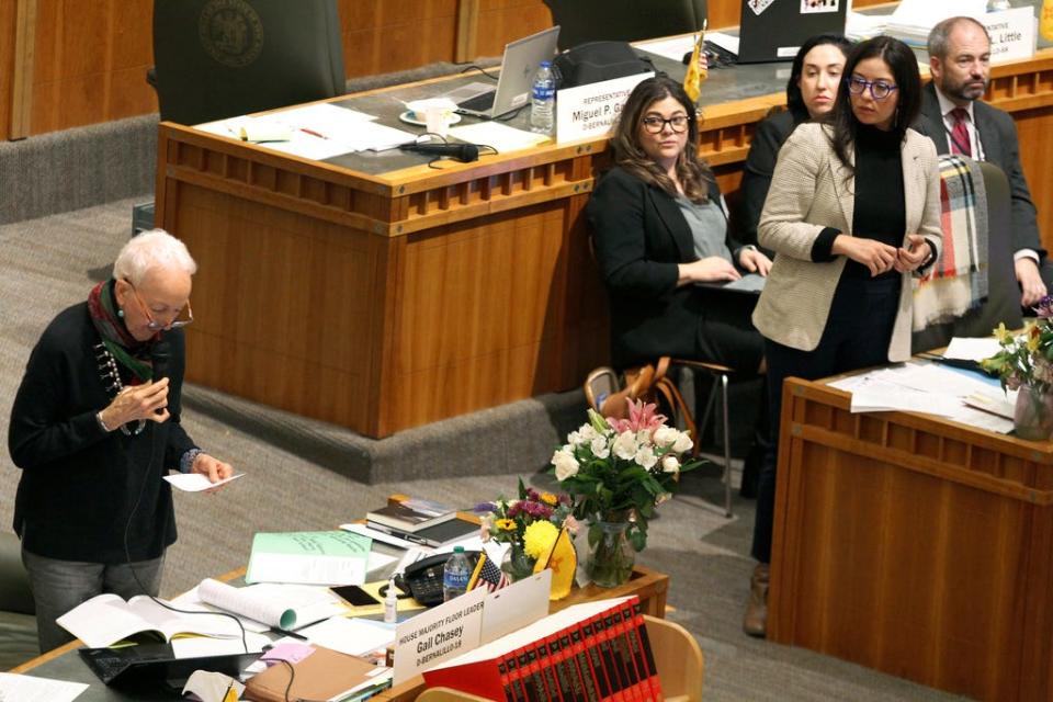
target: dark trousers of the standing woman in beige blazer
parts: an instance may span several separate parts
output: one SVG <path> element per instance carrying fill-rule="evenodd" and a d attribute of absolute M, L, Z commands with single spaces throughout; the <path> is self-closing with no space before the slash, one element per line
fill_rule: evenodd
<path fill-rule="evenodd" d="M 814 381 L 887 363 L 902 284 L 898 275 L 880 280 L 841 278 L 823 337 L 812 351 L 791 349 L 765 339 L 771 438 L 757 480 L 752 555 L 760 563 L 771 562 L 782 382 L 791 376 Z"/>

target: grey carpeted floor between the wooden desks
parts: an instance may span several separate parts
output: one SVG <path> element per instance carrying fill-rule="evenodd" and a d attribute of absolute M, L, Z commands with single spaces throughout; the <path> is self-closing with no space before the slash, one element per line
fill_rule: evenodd
<path fill-rule="evenodd" d="M 84 297 L 129 234 L 132 199 L 0 227 L 0 433 L 32 344 L 61 308 Z M 468 506 L 512 495 L 516 476 L 451 477 L 417 466 L 412 479 L 372 485 L 349 479 L 333 462 L 340 454 L 319 448 L 339 428 L 286 432 L 281 440 L 260 422 L 246 421 L 240 400 L 216 401 L 211 390 L 190 386 L 183 421 L 191 435 L 230 460 L 246 478 L 218 495 L 178 495 L 180 540 L 169 553 L 162 592 L 173 595 L 202 577 L 246 563 L 257 531 L 329 529 L 381 505 L 393 491 Z M 240 407 L 240 409 L 239 409 Z M 279 412 L 272 424 L 286 421 Z M 261 429 L 261 427 L 263 427 Z M 299 439 L 290 437 L 299 435 Z M 495 439 L 496 440 L 496 439 Z M 477 449 L 480 440 L 466 442 Z M 350 441 L 349 444 L 353 443 Z M 411 444 L 411 442 L 410 442 Z M 551 445 L 551 444 L 550 444 Z M 541 451 L 545 454 L 548 450 Z M 319 460 L 320 454 L 325 460 Z M 537 463 L 542 467 L 543 460 Z M 748 558 L 752 502 L 736 496 L 735 517 L 714 507 L 722 488 L 712 469 L 686 480 L 684 491 L 663 506 L 648 548 L 639 561 L 669 573 L 669 616 L 693 632 L 705 654 L 707 700 L 951 700 L 958 699 L 806 650 L 756 641 L 740 632 L 741 607 L 752 568 Z M 544 475 L 526 476 L 544 483 Z M 19 471 L 0 452 L 0 529 L 11 529 Z"/>

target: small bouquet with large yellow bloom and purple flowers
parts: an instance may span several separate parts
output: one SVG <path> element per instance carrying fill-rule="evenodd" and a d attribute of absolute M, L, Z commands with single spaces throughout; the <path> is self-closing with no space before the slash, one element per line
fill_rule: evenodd
<path fill-rule="evenodd" d="M 511 544 L 502 567 L 513 580 L 533 573 L 537 558 L 552 550 L 564 525 L 577 531 L 567 495 L 539 492 L 523 485 L 522 478 L 519 499 L 482 502 L 475 512 L 482 518 L 484 539 Z"/>

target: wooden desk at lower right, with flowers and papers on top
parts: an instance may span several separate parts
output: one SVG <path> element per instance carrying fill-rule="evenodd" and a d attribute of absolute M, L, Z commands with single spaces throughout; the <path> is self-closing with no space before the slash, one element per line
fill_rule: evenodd
<path fill-rule="evenodd" d="M 1053 698 L 1053 443 L 783 393 L 768 634 L 982 700 Z"/>

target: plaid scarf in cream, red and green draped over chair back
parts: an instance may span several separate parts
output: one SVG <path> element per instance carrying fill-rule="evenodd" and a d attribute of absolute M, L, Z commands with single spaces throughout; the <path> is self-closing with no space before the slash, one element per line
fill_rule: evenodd
<path fill-rule="evenodd" d="M 961 317 L 987 298 L 987 190 L 980 165 L 940 157 L 943 250 L 914 281 L 914 330 Z"/>

